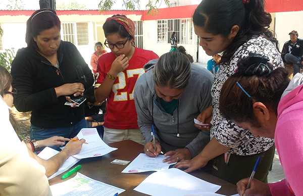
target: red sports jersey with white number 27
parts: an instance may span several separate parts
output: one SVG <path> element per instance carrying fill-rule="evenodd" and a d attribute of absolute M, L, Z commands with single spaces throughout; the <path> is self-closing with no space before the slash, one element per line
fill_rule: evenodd
<path fill-rule="evenodd" d="M 102 55 L 98 60 L 95 87 L 99 87 L 112 63 L 116 59 L 113 53 Z M 135 83 L 144 72 L 143 66 L 150 60 L 159 59 L 152 51 L 135 47 L 132 58 L 128 61 L 128 67 L 118 74 L 107 98 L 104 126 L 111 129 L 138 129 L 137 112 L 134 102 Z"/>

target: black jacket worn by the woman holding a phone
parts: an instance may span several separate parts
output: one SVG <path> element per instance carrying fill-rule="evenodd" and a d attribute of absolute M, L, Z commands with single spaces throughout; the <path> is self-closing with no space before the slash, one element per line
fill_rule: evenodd
<path fill-rule="evenodd" d="M 18 90 L 14 105 L 20 112 L 32 111 L 31 123 L 40 128 L 68 127 L 84 118 L 84 104 L 64 105 L 65 96 L 57 98 L 55 87 L 81 82 L 87 89 L 93 84 L 91 70 L 74 44 L 61 41 L 57 53 L 58 71 L 33 47 L 18 50 L 12 64 L 13 87 Z"/>

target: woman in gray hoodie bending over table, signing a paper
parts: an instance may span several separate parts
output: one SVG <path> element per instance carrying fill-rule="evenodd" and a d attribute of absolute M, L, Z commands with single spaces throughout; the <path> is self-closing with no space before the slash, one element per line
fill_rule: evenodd
<path fill-rule="evenodd" d="M 196 128 L 193 119 L 211 105 L 213 75 L 190 64 L 178 51 L 148 62 L 144 69 L 149 71 L 138 79 L 134 91 L 138 125 L 146 142 L 144 153 L 155 157 L 163 151 L 170 156 L 165 160 L 168 163 L 195 157 L 210 140 L 209 132 Z"/>

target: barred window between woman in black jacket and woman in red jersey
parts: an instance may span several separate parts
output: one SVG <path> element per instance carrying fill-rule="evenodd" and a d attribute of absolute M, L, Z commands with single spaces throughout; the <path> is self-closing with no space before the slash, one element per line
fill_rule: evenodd
<path fill-rule="evenodd" d="M 88 45 L 88 23 L 62 23 L 64 41 L 70 41 L 75 45 Z"/>

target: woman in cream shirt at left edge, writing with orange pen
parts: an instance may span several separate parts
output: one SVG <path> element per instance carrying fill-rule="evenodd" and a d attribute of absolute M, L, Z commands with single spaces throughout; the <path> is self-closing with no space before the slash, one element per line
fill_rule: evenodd
<path fill-rule="evenodd" d="M 47 177 L 57 172 L 70 156 L 79 153 L 85 140 L 69 141 L 64 150 L 51 159 L 39 158 L 33 153 L 32 146 L 21 142 L 9 122 L 13 95 L 17 93 L 11 82 L 11 74 L 0 66 L 0 124 L 1 134 L 5 138 L 0 142 L 0 195 L 51 195 Z M 62 141 L 56 139 L 37 142 L 40 145 L 61 145 Z"/>

